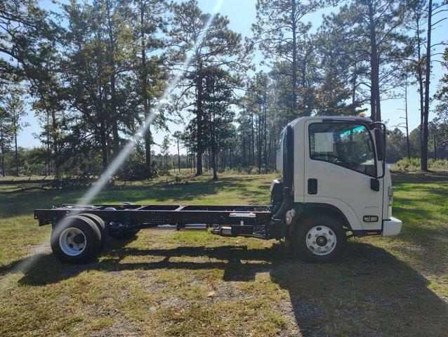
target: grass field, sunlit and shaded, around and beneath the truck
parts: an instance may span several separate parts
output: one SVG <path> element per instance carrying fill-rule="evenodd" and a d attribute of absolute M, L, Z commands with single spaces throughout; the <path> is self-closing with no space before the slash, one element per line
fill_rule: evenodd
<path fill-rule="evenodd" d="M 274 177 L 160 178 L 95 203 L 267 204 Z M 350 239 L 327 265 L 274 241 L 149 230 L 65 265 L 32 211 L 84 190 L 0 194 L 0 336 L 446 336 L 448 174 L 393 181 L 402 234 Z"/>

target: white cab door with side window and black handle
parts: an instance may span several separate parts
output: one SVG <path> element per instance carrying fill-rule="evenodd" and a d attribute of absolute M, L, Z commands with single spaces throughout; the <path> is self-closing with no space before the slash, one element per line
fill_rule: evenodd
<path fill-rule="evenodd" d="M 371 189 L 381 167 L 367 125 L 314 119 L 305 123 L 304 136 L 305 203 L 335 206 L 353 230 L 381 230 L 383 179 L 378 192 Z"/>

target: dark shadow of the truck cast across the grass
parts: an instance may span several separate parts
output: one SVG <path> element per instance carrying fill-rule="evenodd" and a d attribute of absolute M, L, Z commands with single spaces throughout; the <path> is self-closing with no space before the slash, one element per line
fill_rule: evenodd
<path fill-rule="evenodd" d="M 257 273 L 289 292 L 291 315 L 302 336 L 442 336 L 448 305 L 428 289 L 428 279 L 388 251 L 350 242 L 338 263 L 296 261 L 291 252 L 247 246 L 180 246 L 174 249 L 136 249 L 117 243 L 105 258 L 88 265 L 66 265 L 51 254 L 34 261 L 19 284 L 42 286 L 88 270 L 223 270 L 224 282 L 253 282 Z M 126 263 L 126 257 L 151 256 L 157 262 Z M 216 262 L 198 257 L 215 259 Z M 173 258 L 171 260 L 171 258 Z M 196 258 L 196 259 L 195 259 Z M 185 260 L 186 259 L 186 260 Z M 190 260 L 189 260 L 190 259 Z M 135 260 L 135 259 L 134 259 Z M 15 270 L 22 260 L 0 269 Z"/>

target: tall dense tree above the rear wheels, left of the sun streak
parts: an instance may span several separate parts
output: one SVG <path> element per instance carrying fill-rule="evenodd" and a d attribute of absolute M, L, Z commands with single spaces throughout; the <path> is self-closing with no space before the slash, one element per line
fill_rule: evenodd
<path fill-rule="evenodd" d="M 64 6 L 70 25 L 65 34 L 63 81 L 67 102 L 79 114 L 73 130 L 84 133 L 84 150 L 101 153 L 103 170 L 119 144 L 118 124 L 132 124 L 129 104 L 131 31 L 117 1 L 97 0 Z M 120 5 L 121 6 L 121 5 Z M 133 126 L 131 125 L 131 129 Z M 84 153 L 86 154 L 86 153 Z"/>

